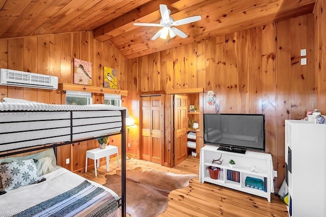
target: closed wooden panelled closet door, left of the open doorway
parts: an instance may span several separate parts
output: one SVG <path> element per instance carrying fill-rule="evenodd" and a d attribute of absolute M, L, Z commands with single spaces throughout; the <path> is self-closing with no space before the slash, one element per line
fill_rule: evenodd
<path fill-rule="evenodd" d="M 158 164 L 164 162 L 164 96 L 142 97 L 142 159 Z"/>

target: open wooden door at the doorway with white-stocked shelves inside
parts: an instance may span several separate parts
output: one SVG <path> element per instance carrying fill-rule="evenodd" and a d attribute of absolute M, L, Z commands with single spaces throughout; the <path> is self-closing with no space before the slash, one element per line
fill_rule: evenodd
<path fill-rule="evenodd" d="M 174 166 L 187 159 L 187 96 L 174 96 Z"/>

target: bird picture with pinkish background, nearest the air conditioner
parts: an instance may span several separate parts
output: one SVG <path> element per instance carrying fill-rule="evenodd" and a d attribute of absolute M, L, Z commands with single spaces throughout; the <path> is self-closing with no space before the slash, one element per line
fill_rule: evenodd
<path fill-rule="evenodd" d="M 92 63 L 73 59 L 73 83 L 92 85 Z"/>

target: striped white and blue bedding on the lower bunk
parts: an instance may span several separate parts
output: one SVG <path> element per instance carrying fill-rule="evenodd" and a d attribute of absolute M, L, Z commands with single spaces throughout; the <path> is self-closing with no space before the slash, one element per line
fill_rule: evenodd
<path fill-rule="evenodd" d="M 112 190 L 61 167 L 42 177 L 46 181 L 0 195 L 0 216 L 117 216 Z"/>

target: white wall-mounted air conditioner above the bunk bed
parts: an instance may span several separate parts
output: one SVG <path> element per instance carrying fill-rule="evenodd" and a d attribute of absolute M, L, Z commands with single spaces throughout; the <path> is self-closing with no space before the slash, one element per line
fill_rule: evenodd
<path fill-rule="evenodd" d="M 58 77 L 11 69 L 1 69 L 0 85 L 58 89 Z"/>

